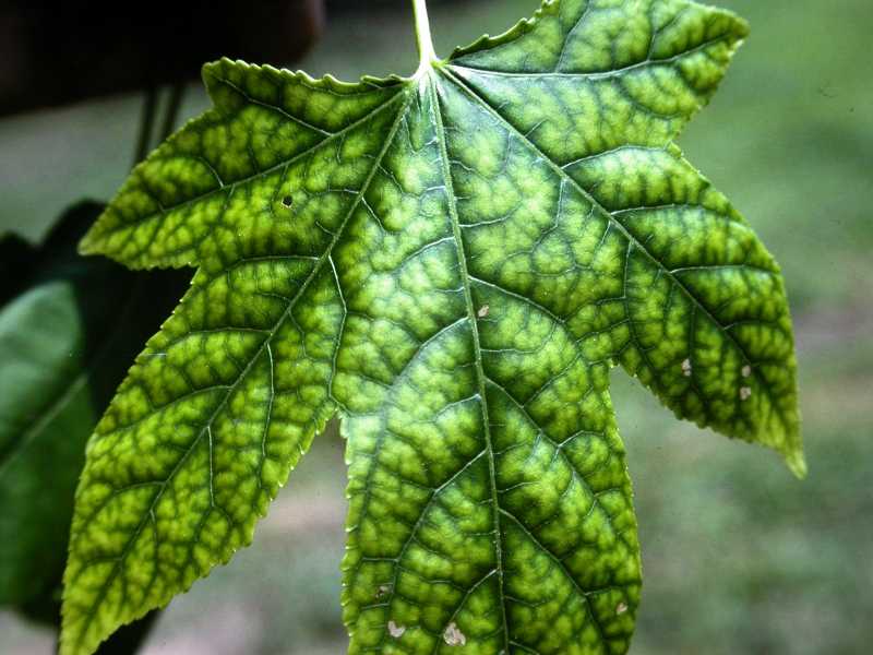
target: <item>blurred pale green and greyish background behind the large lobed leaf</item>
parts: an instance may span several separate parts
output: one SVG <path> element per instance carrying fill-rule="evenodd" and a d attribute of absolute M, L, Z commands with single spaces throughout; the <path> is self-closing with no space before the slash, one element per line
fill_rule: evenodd
<path fill-rule="evenodd" d="M 778 457 L 679 424 L 615 371 L 645 585 L 634 655 L 873 652 L 873 27 L 871 0 L 721 0 L 753 33 L 680 143 L 745 214 L 786 274 L 797 320 L 809 479 Z M 432 9 L 443 53 L 537 0 Z M 327 23 L 300 64 L 340 79 L 410 73 L 410 15 Z M 0 231 L 29 238 L 132 157 L 141 98 L 0 121 Z M 198 88 L 184 115 L 206 106 Z M 338 655 L 343 444 L 316 440 L 254 545 L 177 598 L 144 653 Z M 0 508 L 0 511 L 2 509 Z M 52 652 L 0 612 L 0 653 Z"/>

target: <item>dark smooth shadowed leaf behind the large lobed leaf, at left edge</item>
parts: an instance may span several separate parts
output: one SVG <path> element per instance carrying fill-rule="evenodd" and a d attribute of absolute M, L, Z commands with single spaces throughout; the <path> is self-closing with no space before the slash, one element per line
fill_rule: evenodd
<path fill-rule="evenodd" d="M 178 275 L 163 275 L 137 293 L 142 275 L 76 254 L 103 209 L 80 203 L 39 248 L 0 243 L 0 605 L 49 615 L 41 606 L 57 604 L 85 442 L 172 308 L 164 287 L 172 278 L 179 288 Z"/>

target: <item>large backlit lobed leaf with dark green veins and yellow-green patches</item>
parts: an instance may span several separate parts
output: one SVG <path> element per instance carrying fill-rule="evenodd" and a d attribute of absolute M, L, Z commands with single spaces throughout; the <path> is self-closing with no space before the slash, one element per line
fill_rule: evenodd
<path fill-rule="evenodd" d="M 415 7 L 409 79 L 207 64 L 215 108 L 83 241 L 198 271 L 88 444 L 64 655 L 248 544 L 335 414 L 351 653 L 627 650 L 614 361 L 803 472 L 779 270 L 672 144 L 745 23 L 547 1 L 441 61 Z"/>

